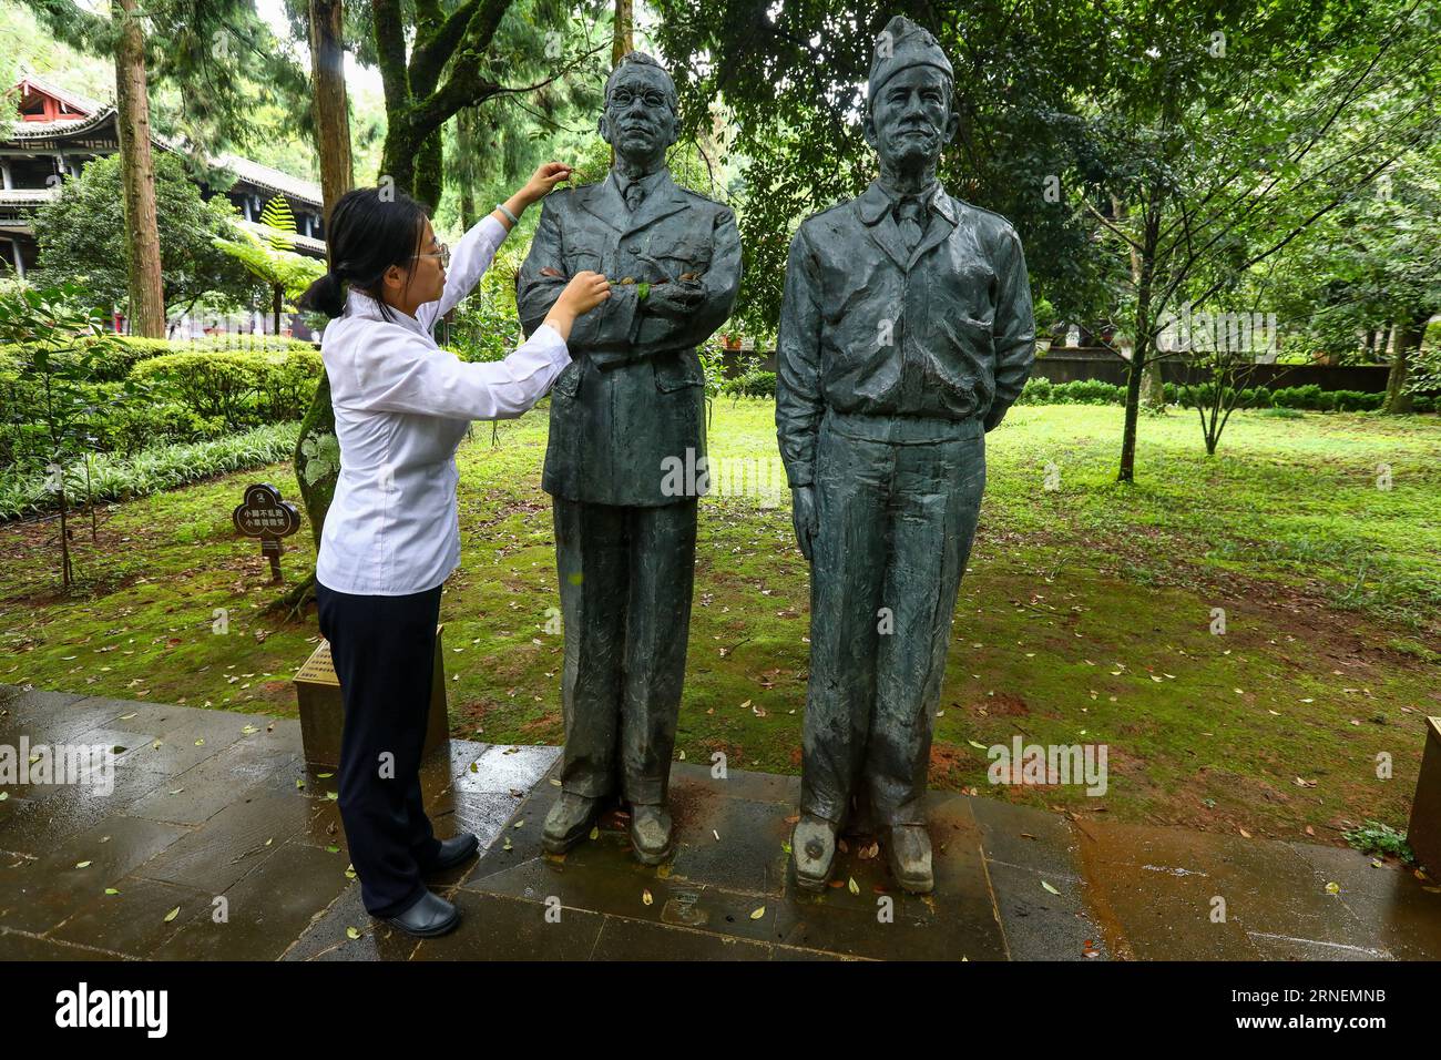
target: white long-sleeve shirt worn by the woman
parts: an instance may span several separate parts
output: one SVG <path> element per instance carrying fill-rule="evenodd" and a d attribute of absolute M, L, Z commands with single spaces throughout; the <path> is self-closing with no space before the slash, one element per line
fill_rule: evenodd
<path fill-rule="evenodd" d="M 504 226 L 491 216 L 465 232 L 445 290 L 415 316 L 352 290 L 326 326 L 340 480 L 320 535 L 320 584 L 359 596 L 405 596 L 445 581 L 460 562 L 455 449 L 471 420 L 514 418 L 571 363 L 565 339 L 540 326 L 504 361 L 467 363 L 431 336 L 490 267 Z"/>

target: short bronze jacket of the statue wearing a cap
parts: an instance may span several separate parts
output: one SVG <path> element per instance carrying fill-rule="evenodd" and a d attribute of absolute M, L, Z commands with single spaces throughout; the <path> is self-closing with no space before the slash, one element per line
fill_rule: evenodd
<path fill-rule="evenodd" d="M 873 182 L 797 229 L 777 348 L 775 425 L 791 486 L 813 482 L 827 407 L 938 420 L 1004 411 L 1036 359 L 1016 229 L 937 182 L 929 224 L 906 254 L 891 195 Z"/>

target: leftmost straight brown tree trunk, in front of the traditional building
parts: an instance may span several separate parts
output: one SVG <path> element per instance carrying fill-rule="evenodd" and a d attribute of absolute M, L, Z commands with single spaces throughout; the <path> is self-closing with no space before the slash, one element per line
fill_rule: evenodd
<path fill-rule="evenodd" d="M 125 198 L 130 262 L 130 330 L 146 339 L 166 337 L 166 296 L 160 273 L 160 224 L 156 216 L 156 170 L 150 154 L 150 97 L 146 39 L 135 0 L 120 0 L 115 46 L 115 128 Z"/>

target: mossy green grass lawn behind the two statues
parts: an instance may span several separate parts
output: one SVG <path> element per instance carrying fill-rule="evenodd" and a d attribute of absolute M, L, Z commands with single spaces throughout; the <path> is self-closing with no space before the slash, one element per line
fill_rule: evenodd
<path fill-rule="evenodd" d="M 772 417 L 718 401 L 712 456 L 772 460 Z M 1209 459 L 1195 417 L 1172 411 L 1143 418 L 1131 487 L 1114 483 L 1120 430 L 1120 408 L 1050 405 L 987 438 L 932 785 L 1213 831 L 1405 829 L 1422 717 L 1441 714 L 1441 420 L 1238 412 Z M 545 440 L 540 410 L 461 449 L 464 565 L 442 603 L 455 736 L 562 740 Z M 256 480 L 297 493 L 277 464 L 120 505 L 98 544 L 78 526 L 71 596 L 53 521 L 0 528 L 0 681 L 293 714 L 317 632 L 313 611 L 267 611 L 259 548 L 231 528 Z M 314 560 L 304 534 L 282 560 L 293 578 Z M 702 502 L 677 754 L 798 772 L 807 578 L 784 490 Z M 1017 734 L 1107 744 L 1105 796 L 991 787 L 983 748 Z"/>

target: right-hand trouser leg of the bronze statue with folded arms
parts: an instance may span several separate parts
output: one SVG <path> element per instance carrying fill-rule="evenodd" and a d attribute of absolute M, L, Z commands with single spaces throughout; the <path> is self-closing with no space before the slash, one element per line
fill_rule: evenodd
<path fill-rule="evenodd" d="M 627 802 L 666 800 L 686 679 L 696 499 L 630 508 L 630 596 L 621 698 L 621 790 Z M 620 606 L 615 600 L 612 606 Z"/>

